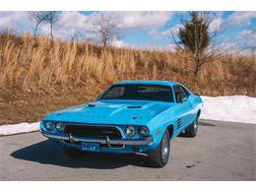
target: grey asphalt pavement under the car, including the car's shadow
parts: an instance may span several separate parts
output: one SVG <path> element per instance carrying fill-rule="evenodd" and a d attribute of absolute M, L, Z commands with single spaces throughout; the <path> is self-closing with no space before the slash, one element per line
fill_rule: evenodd
<path fill-rule="evenodd" d="M 171 141 L 169 162 L 90 154 L 65 157 L 59 145 L 28 133 L 0 137 L 0 180 L 256 180 L 256 125 L 201 120 L 196 138 Z"/>

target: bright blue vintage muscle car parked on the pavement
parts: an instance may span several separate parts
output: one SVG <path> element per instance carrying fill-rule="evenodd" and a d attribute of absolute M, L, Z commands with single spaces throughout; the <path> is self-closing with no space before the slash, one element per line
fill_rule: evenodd
<path fill-rule="evenodd" d="M 48 114 L 40 121 L 40 131 L 71 158 L 83 151 L 139 153 L 161 167 L 172 138 L 181 132 L 197 135 L 201 106 L 200 96 L 176 82 L 120 82 L 95 102 Z"/>

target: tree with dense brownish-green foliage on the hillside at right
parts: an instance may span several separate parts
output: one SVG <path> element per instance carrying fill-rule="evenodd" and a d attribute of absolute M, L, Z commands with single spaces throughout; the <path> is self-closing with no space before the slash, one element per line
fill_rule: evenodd
<path fill-rule="evenodd" d="M 196 78 L 204 64 L 220 58 L 223 54 L 220 51 L 221 47 L 214 46 L 214 38 L 218 35 L 218 30 L 210 32 L 216 15 L 210 12 L 189 12 L 189 16 L 190 18 L 185 20 L 182 28 L 179 29 L 179 40 L 173 34 L 172 38 L 177 49 L 186 52 L 193 60 Z"/>

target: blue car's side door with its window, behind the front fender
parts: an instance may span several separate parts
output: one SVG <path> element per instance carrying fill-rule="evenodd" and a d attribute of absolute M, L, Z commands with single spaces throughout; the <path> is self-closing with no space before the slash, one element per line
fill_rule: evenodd
<path fill-rule="evenodd" d="M 173 86 L 173 94 L 177 103 L 176 129 L 181 131 L 191 123 L 192 115 L 190 111 L 192 105 L 188 94 L 182 89 L 181 85 Z"/>

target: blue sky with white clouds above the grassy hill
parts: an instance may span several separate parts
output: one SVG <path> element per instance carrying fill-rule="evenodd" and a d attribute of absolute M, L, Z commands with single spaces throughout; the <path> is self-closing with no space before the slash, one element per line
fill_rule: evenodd
<path fill-rule="evenodd" d="M 80 40 L 97 42 L 96 20 L 100 12 L 62 12 L 61 19 L 54 27 L 54 35 L 69 39 L 75 33 Z M 116 23 L 121 38 L 112 42 L 114 46 L 170 47 L 173 40 L 170 33 L 177 34 L 181 18 L 188 18 L 187 12 L 105 12 Z M 244 48 L 256 44 L 256 12 L 215 12 L 211 27 L 218 31 L 219 43 Z M 0 12 L 0 31 L 32 32 L 33 25 L 27 12 Z M 39 33 L 48 35 L 46 25 L 39 26 Z"/>

